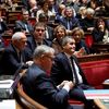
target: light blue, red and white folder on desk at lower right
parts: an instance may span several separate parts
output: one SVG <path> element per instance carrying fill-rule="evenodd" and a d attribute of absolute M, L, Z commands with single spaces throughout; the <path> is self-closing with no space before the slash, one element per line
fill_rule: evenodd
<path fill-rule="evenodd" d="M 109 89 L 87 89 L 84 95 L 86 99 L 109 99 Z"/>

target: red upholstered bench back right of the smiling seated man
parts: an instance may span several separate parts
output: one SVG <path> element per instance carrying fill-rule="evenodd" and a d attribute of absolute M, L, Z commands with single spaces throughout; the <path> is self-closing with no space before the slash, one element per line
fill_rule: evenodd
<path fill-rule="evenodd" d="M 88 83 L 95 88 L 102 88 L 102 82 L 109 78 L 109 60 L 83 62 L 81 66 Z"/>

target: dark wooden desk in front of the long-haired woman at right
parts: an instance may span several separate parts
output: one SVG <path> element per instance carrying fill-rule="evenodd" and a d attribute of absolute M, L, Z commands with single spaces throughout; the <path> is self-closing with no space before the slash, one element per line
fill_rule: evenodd
<path fill-rule="evenodd" d="M 102 43 L 98 43 L 98 44 L 94 44 L 93 48 L 95 49 L 95 51 L 97 53 L 100 52 L 109 52 L 109 44 L 102 44 Z"/>

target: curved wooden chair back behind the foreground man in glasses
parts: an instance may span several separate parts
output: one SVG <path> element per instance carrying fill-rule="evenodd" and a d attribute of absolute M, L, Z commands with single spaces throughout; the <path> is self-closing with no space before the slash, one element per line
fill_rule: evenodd
<path fill-rule="evenodd" d="M 22 70 L 21 76 L 24 76 L 26 70 Z M 39 102 L 32 99 L 24 90 L 22 83 L 19 82 L 17 89 L 16 89 L 19 100 L 17 102 L 25 109 L 47 109 L 45 106 L 40 105 Z"/>

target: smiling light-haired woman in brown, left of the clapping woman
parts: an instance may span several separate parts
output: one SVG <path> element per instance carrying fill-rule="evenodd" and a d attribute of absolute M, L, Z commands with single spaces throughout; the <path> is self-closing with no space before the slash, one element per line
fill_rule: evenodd
<path fill-rule="evenodd" d="M 52 40 L 52 48 L 55 49 L 55 53 L 59 53 L 62 51 L 62 38 L 66 36 L 66 29 L 63 25 L 58 25 L 53 32 L 55 39 Z"/>

